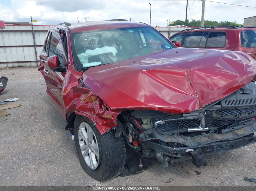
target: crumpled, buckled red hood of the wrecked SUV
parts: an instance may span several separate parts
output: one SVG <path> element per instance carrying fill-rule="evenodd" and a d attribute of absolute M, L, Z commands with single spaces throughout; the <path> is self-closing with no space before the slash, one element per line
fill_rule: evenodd
<path fill-rule="evenodd" d="M 248 84 L 255 65 L 242 52 L 175 48 L 91 67 L 83 81 L 112 109 L 187 113 Z"/>

